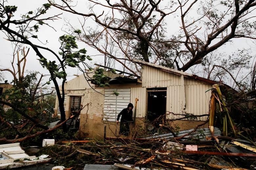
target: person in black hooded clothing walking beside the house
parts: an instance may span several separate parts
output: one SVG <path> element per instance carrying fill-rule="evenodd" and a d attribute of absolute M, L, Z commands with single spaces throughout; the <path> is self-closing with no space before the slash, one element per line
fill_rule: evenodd
<path fill-rule="evenodd" d="M 122 115 L 122 117 L 121 117 L 121 120 L 120 120 L 119 134 L 120 135 L 129 136 L 129 133 L 130 133 L 129 123 L 133 122 L 133 119 L 132 119 L 132 116 L 133 116 L 133 104 L 129 103 L 127 108 L 123 109 L 117 115 L 117 124 L 119 122 L 119 118 L 120 118 L 121 115 Z"/>

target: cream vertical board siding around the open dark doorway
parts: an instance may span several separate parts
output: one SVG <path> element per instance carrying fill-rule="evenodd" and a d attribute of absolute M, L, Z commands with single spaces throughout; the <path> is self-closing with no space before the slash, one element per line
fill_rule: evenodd
<path fill-rule="evenodd" d="M 142 87 L 145 94 L 141 93 L 140 88 L 134 88 L 131 90 L 131 95 L 135 100 L 135 96 L 139 98 L 139 108 L 138 112 L 145 116 L 146 114 L 146 88 L 153 87 L 167 87 L 166 96 L 166 111 L 180 114 L 182 112 L 193 113 L 195 115 L 208 114 L 209 112 L 209 101 L 211 91 L 205 93 L 205 91 L 211 89 L 212 85 L 184 77 L 184 89 L 185 89 L 185 102 L 186 107 L 182 108 L 182 86 L 181 86 L 181 76 L 172 73 L 167 73 L 159 69 L 149 67 L 147 65 L 142 65 Z M 134 91 L 134 92 L 133 92 Z M 139 96 L 139 97 L 138 97 Z M 142 99 L 143 101 L 141 101 Z M 131 99 L 132 100 L 132 99 Z M 132 102 L 132 101 L 131 101 Z M 140 108 L 142 107 L 142 108 Z M 178 118 L 170 114 L 168 118 Z M 206 116 L 201 117 L 200 120 L 206 120 Z"/>

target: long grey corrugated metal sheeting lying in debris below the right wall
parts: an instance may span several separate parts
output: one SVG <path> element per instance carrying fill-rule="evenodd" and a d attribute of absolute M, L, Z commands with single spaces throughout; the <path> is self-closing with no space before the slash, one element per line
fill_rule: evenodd
<path fill-rule="evenodd" d="M 194 129 L 189 129 L 189 130 L 182 130 L 180 131 L 177 136 L 183 136 L 184 134 L 186 133 L 189 133 L 191 131 L 193 131 Z M 221 131 L 218 127 L 214 127 L 214 136 L 220 136 L 221 135 Z M 212 134 L 210 132 L 210 129 L 209 128 L 199 128 L 196 130 L 196 132 L 188 135 L 188 136 L 185 136 L 184 139 L 188 139 L 188 138 L 199 138 L 199 139 L 205 139 L 205 136 L 208 136 L 208 137 L 211 137 Z M 161 134 L 161 135 L 155 135 L 155 136 L 149 136 L 149 137 L 146 137 L 145 139 L 153 139 L 153 138 L 156 138 L 156 139 L 171 139 L 173 138 L 173 134 L 172 133 L 165 133 L 165 134 Z"/>

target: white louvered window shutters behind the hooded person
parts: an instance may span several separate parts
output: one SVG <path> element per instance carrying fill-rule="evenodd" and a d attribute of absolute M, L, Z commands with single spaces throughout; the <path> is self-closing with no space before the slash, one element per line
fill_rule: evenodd
<path fill-rule="evenodd" d="M 118 92 L 116 96 L 113 92 Z M 127 108 L 131 99 L 131 89 L 105 89 L 104 118 L 105 121 L 115 122 L 117 114 Z"/>

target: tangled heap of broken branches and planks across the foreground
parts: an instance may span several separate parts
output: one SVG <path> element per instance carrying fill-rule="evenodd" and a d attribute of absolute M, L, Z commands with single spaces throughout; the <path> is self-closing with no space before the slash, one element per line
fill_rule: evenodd
<path fill-rule="evenodd" d="M 244 144 L 247 148 L 234 143 Z M 183 144 L 182 144 L 183 143 Z M 189 150 L 187 147 L 191 148 Z M 248 149 L 250 148 L 250 149 Z M 59 143 L 44 147 L 56 165 L 83 169 L 86 164 L 127 166 L 149 169 L 254 169 L 255 146 L 244 140 L 173 141 L 157 139 L 90 140 L 83 143 Z M 127 169 L 126 167 L 124 167 Z"/>

